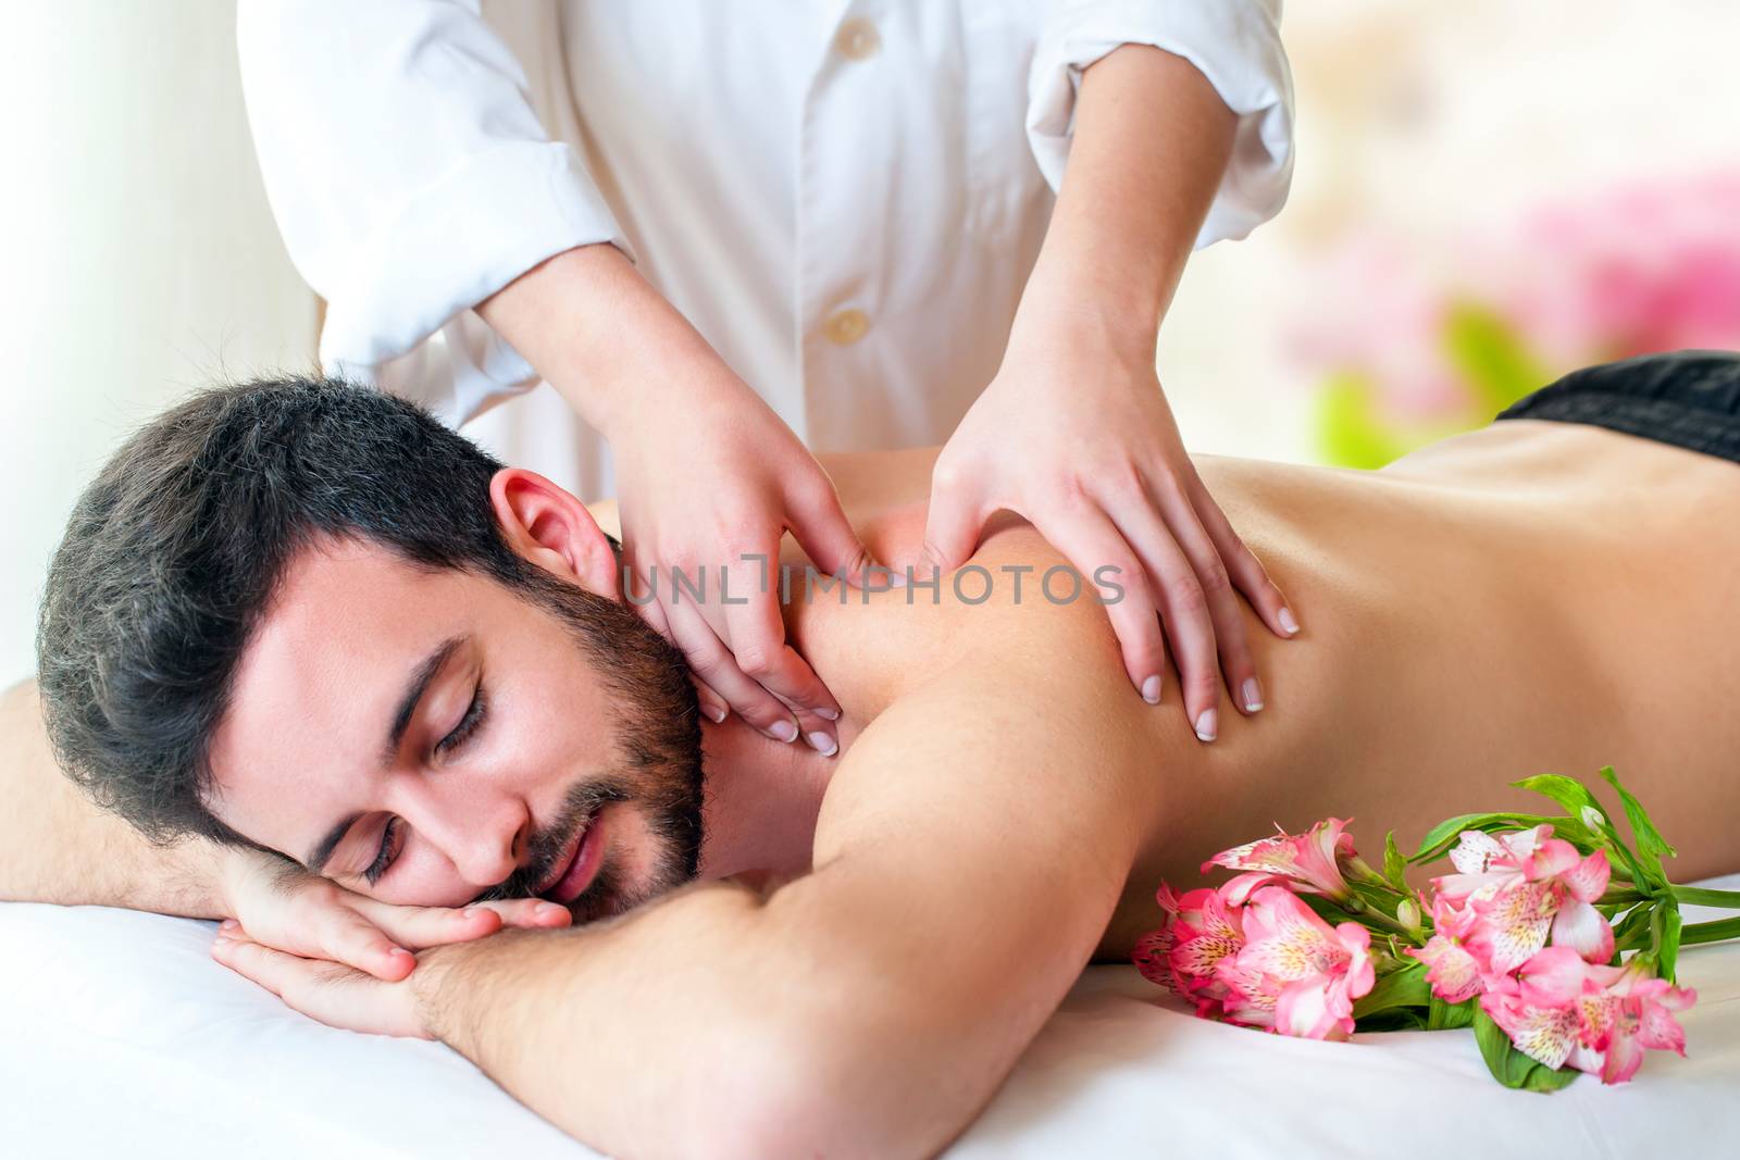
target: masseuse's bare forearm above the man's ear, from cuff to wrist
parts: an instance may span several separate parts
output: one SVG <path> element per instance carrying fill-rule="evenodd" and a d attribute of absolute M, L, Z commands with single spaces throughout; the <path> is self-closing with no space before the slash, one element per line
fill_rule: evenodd
<path fill-rule="evenodd" d="M 682 313 L 614 245 L 550 257 L 477 308 L 606 437 L 635 416 L 666 421 L 736 379 Z"/>

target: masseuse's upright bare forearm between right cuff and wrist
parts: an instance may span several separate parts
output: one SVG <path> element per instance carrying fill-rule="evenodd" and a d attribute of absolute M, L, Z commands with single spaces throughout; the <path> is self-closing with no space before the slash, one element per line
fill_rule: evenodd
<path fill-rule="evenodd" d="M 1016 327 L 1075 317 L 1152 344 L 1235 129 L 1237 117 L 1183 57 L 1124 45 L 1091 64 Z"/>

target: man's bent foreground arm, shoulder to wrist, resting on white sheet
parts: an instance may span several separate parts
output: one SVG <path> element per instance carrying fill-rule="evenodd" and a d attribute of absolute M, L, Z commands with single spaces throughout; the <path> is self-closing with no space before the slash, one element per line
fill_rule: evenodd
<path fill-rule="evenodd" d="M 609 1153 L 954 1139 L 1089 960 L 1159 784 L 1098 607 L 973 612 L 994 643 L 844 758 L 814 873 L 442 948 L 425 1026 Z"/>

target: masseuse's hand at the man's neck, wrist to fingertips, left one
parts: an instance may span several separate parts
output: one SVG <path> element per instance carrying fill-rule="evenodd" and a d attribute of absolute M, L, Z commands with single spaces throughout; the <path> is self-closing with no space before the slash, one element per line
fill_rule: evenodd
<path fill-rule="evenodd" d="M 689 659 L 708 717 L 724 720 L 729 706 L 769 737 L 802 736 L 832 755 L 840 706 L 786 643 L 780 539 L 790 530 L 818 570 L 844 569 L 853 584 L 875 565 L 833 482 L 755 391 L 712 351 L 682 374 L 680 416 L 646 405 L 611 430 L 628 595 Z M 677 586 L 679 574 L 696 586 L 705 576 L 705 600 Z"/>

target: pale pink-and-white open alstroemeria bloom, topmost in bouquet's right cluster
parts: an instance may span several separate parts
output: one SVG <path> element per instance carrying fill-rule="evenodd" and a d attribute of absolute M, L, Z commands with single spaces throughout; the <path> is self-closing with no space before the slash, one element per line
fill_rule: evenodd
<path fill-rule="evenodd" d="M 1613 957 L 1613 927 L 1594 903 L 1608 889 L 1608 856 L 1580 857 L 1552 826 L 1489 835 L 1463 830 L 1449 852 L 1456 871 L 1434 878 L 1437 896 L 1472 911 L 1463 946 L 1486 974 L 1516 970 L 1547 946 L 1571 946 L 1589 962 Z"/>

